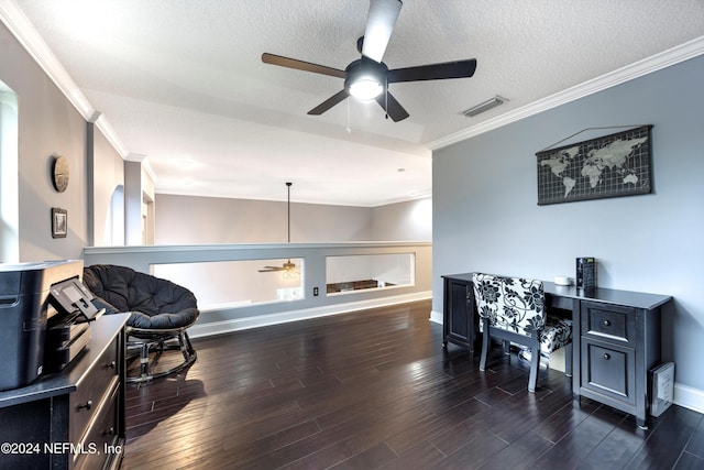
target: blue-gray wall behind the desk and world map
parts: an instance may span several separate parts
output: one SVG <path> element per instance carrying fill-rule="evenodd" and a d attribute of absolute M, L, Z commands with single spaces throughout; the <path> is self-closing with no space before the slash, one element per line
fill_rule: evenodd
<path fill-rule="evenodd" d="M 574 258 L 596 256 L 601 287 L 674 297 L 666 359 L 679 384 L 703 391 L 702 84 L 700 56 L 436 151 L 433 311 L 442 274 L 552 280 L 574 276 Z M 582 129 L 648 123 L 653 194 L 537 206 L 536 152 Z"/>

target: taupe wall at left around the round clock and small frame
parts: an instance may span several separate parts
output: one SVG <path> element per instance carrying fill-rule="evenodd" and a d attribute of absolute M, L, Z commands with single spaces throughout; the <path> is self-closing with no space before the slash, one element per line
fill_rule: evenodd
<path fill-rule="evenodd" d="M 86 121 L 1 24 L 0 80 L 19 101 L 19 261 L 80 258 L 87 240 Z M 52 186 L 54 154 L 68 159 L 65 193 Z M 66 238 L 52 238 L 52 207 L 68 211 Z"/>

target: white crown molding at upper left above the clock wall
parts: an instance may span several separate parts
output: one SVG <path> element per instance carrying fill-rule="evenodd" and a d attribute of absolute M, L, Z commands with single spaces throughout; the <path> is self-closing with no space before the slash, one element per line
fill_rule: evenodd
<path fill-rule="evenodd" d="M 122 159 L 130 152 L 112 125 L 80 91 L 14 0 L 0 0 L 0 20 L 87 122 L 94 122 Z"/>

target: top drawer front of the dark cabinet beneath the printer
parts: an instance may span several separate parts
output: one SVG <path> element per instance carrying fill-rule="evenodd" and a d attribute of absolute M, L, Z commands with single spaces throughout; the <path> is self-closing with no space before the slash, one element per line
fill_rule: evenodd
<path fill-rule="evenodd" d="M 69 433 L 72 442 L 80 441 L 88 423 L 98 411 L 106 393 L 118 376 L 118 342 L 110 343 L 92 369 L 69 395 Z"/>

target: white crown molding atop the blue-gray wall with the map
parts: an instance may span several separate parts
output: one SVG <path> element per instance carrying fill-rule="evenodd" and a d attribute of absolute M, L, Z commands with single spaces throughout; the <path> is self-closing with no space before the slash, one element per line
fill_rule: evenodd
<path fill-rule="evenodd" d="M 634 78 L 642 77 L 653 72 L 679 64 L 690 58 L 704 54 L 704 36 L 672 47 L 660 54 L 638 61 L 608 74 L 602 75 L 583 84 L 568 88 L 547 98 L 534 101 L 513 111 L 488 119 L 471 128 L 463 129 L 452 134 L 436 139 L 427 145 L 430 150 L 438 150 L 453 143 L 480 135 L 484 132 L 498 129 L 512 122 L 519 121 L 534 114 L 547 111 L 570 101 L 584 98 L 604 89 L 614 87 Z"/>

